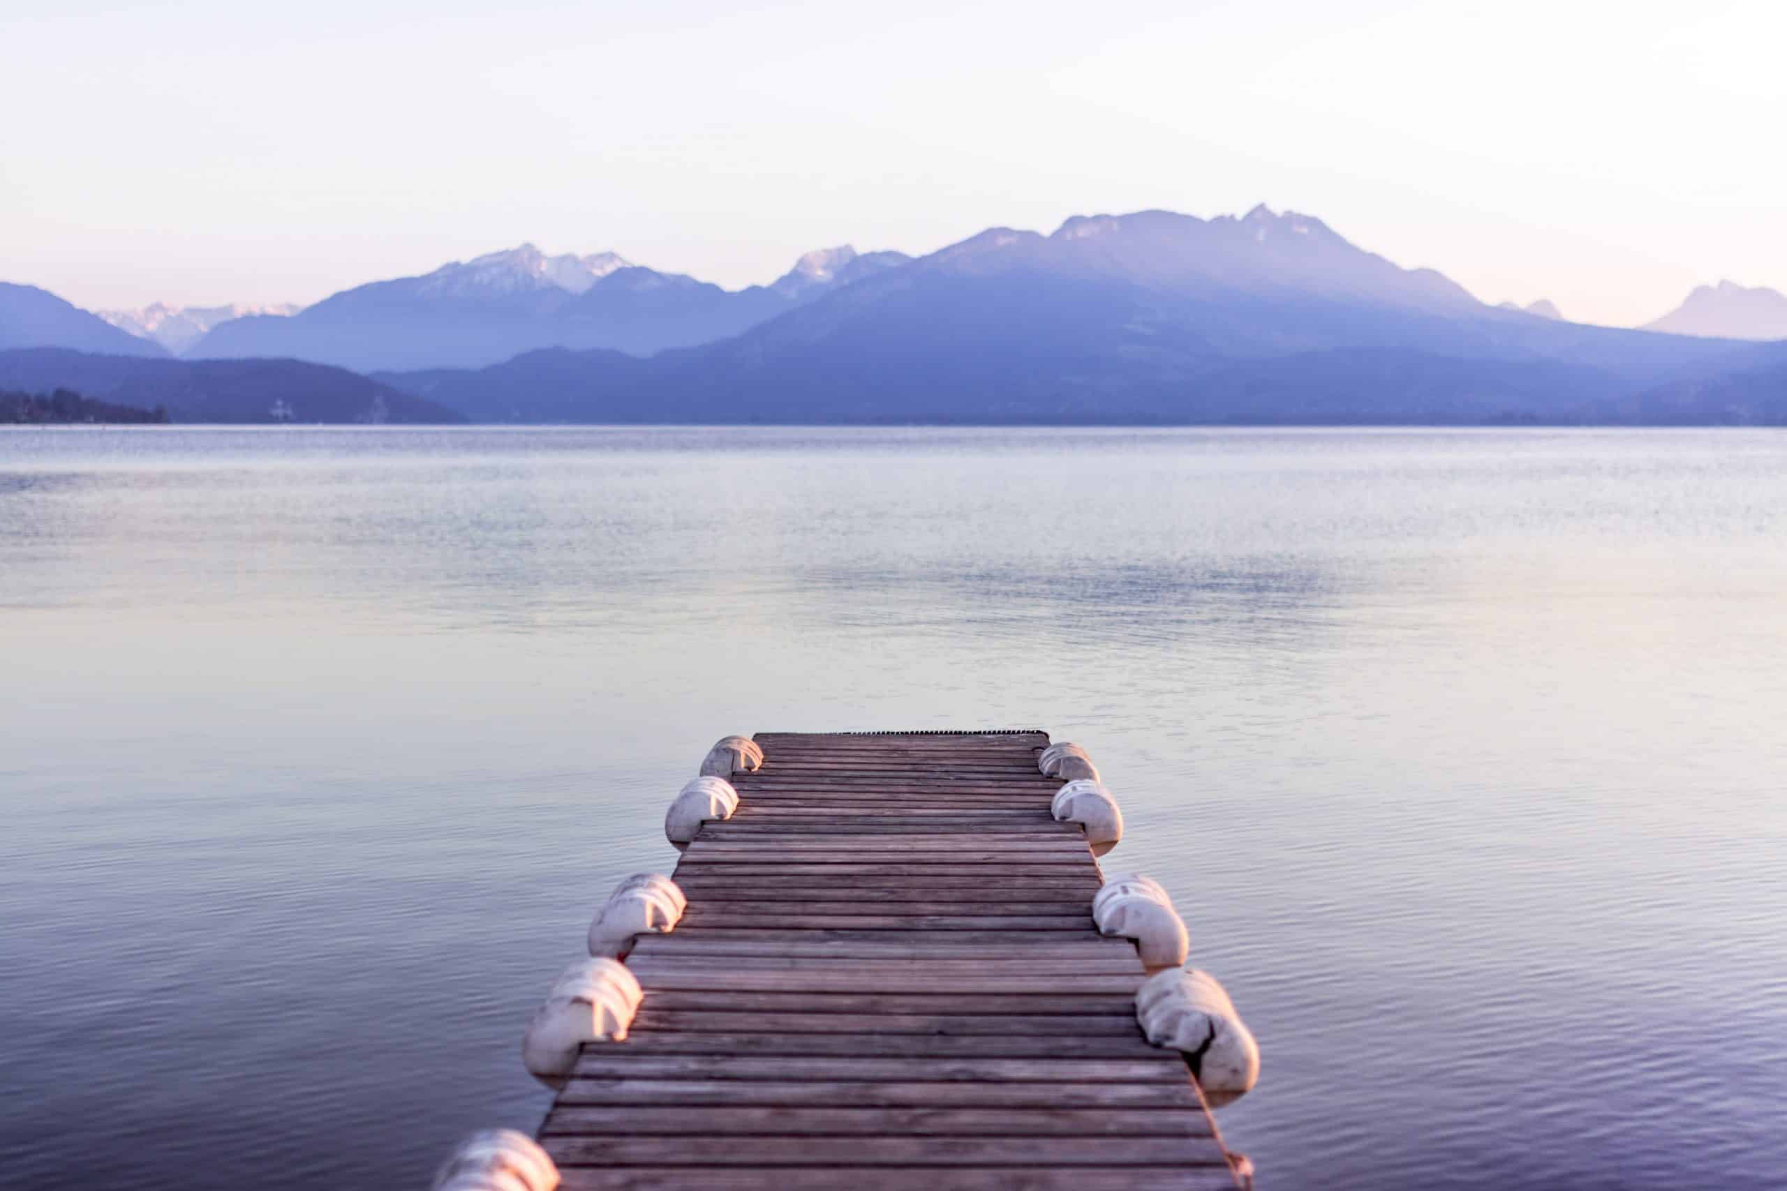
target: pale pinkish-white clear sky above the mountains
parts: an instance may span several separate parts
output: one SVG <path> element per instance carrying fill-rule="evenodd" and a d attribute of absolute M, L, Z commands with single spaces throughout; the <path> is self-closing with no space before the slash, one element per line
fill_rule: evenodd
<path fill-rule="evenodd" d="M 0 280 L 315 302 L 534 241 L 808 248 L 1256 202 L 1637 323 L 1787 289 L 1782 0 L 57 0 L 0 32 Z"/>

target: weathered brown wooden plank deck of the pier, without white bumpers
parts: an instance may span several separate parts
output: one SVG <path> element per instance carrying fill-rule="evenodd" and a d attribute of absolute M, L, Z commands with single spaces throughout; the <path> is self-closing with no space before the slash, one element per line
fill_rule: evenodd
<path fill-rule="evenodd" d="M 1142 962 L 1092 925 L 1042 732 L 754 737 L 738 811 L 540 1129 L 565 1191 L 1235 1187 Z"/>

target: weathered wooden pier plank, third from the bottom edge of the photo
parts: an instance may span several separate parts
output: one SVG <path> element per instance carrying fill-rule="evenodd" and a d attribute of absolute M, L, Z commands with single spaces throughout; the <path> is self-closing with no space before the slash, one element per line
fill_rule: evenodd
<path fill-rule="evenodd" d="M 550 1136 L 686 1136 L 690 1120 L 675 1107 L 561 1107 L 547 1114 L 540 1134 Z M 944 1137 L 1210 1137 L 1208 1121 L 1188 1112 L 1147 1109 L 911 1109 L 911 1107 L 774 1107 L 709 1105 L 701 1114 L 704 1136 L 944 1136 Z"/>

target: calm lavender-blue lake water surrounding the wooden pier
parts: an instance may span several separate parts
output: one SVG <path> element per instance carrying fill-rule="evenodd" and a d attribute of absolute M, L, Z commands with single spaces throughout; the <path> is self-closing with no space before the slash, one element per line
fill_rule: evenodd
<path fill-rule="evenodd" d="M 424 1187 L 727 732 L 1040 727 L 1263 1187 L 1787 1186 L 1787 434 L 0 432 L 0 1184 Z"/>

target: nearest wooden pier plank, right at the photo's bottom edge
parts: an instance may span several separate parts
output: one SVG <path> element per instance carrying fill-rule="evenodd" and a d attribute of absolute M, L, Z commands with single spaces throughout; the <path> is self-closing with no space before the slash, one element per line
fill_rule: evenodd
<path fill-rule="evenodd" d="M 559 1191 L 1233 1191 L 1213 1166 L 566 1166 Z"/>

